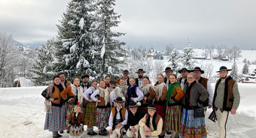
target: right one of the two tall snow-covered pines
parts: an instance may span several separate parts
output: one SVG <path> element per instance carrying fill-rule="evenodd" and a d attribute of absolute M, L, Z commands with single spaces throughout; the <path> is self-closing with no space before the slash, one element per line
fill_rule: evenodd
<path fill-rule="evenodd" d="M 111 76 L 118 76 L 120 73 L 120 66 L 124 64 L 123 56 L 125 56 L 125 49 L 122 45 L 125 43 L 117 40 L 117 37 L 124 35 L 120 32 L 112 31 L 111 28 L 117 27 L 120 23 L 120 15 L 114 12 L 114 0 L 99 0 L 97 5 L 97 56 L 102 60 L 96 62 L 95 71 L 99 77 L 103 74 L 110 74 Z"/>

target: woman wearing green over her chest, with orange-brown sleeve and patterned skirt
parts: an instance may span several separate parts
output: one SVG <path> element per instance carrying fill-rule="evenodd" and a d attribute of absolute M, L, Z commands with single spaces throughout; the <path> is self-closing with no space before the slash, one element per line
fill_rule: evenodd
<path fill-rule="evenodd" d="M 181 98 L 183 98 L 184 93 L 180 84 L 176 81 L 177 76 L 175 74 L 171 74 L 169 80 L 171 84 L 167 92 L 166 118 L 163 127 L 167 134 L 172 134 L 175 138 L 178 138 L 181 126 Z"/>

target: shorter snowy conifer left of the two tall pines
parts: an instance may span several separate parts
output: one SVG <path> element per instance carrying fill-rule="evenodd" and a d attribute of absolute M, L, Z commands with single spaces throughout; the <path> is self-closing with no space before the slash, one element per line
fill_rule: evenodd
<path fill-rule="evenodd" d="M 37 75 L 35 77 L 35 84 L 37 86 L 48 85 L 50 80 L 53 79 L 53 73 L 51 72 L 53 68 L 50 66 L 54 60 L 52 43 L 52 40 L 47 40 L 47 43 L 38 49 L 38 57 L 35 59 L 35 64 L 33 64 L 31 70 Z"/>

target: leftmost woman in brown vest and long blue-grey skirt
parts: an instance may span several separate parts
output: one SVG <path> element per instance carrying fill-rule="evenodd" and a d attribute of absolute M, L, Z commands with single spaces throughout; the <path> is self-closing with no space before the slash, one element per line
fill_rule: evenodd
<path fill-rule="evenodd" d="M 53 132 L 53 138 L 58 138 L 58 131 L 66 129 L 66 107 L 64 103 L 66 101 L 72 101 L 74 94 L 69 92 L 69 100 L 62 99 L 60 96 L 63 91 L 63 87 L 60 84 L 59 76 L 53 77 L 53 83 L 42 92 L 42 96 L 45 98 L 45 111 L 46 117 L 44 122 L 44 130 L 49 130 Z"/>

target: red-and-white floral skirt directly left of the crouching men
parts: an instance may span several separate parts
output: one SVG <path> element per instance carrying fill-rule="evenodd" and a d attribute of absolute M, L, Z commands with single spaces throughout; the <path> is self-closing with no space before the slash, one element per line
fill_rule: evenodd
<path fill-rule="evenodd" d="M 96 126 L 99 130 L 108 127 L 110 108 L 97 108 Z"/>

